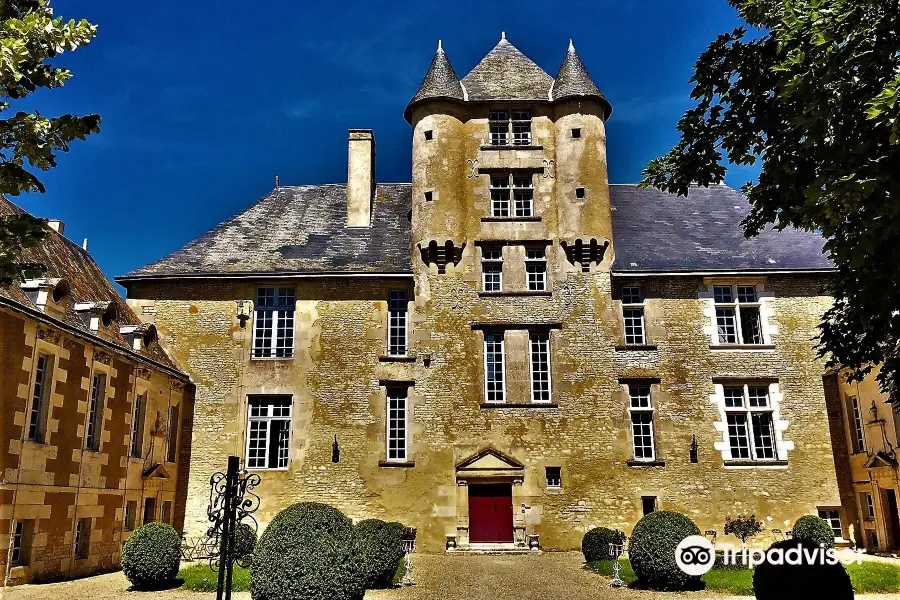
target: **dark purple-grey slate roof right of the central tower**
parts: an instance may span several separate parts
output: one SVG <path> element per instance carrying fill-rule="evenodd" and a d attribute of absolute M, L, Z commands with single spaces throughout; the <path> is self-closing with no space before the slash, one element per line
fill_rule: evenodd
<path fill-rule="evenodd" d="M 797 229 L 768 229 L 746 239 L 750 205 L 724 185 L 691 188 L 679 197 L 636 185 L 611 185 L 613 271 L 830 270 L 825 240 Z"/>

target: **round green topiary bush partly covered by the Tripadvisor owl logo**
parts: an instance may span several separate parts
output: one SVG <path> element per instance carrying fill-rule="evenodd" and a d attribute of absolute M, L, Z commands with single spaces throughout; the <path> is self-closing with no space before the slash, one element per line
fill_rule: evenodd
<path fill-rule="evenodd" d="M 681 513 L 661 510 L 638 521 L 628 543 L 628 559 L 639 584 L 654 590 L 701 589 L 701 579 L 675 562 L 675 548 L 691 535 L 700 535 L 700 529 Z"/>

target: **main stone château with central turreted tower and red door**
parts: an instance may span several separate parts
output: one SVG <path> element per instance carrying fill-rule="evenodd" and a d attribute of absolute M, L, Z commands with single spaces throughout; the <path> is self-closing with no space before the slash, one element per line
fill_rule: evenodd
<path fill-rule="evenodd" d="M 720 535 L 840 505 L 816 325 L 823 240 L 747 240 L 724 185 L 607 176 L 612 113 L 570 45 L 437 53 L 404 116 L 412 182 L 283 186 L 118 281 L 196 383 L 186 528 L 226 456 L 265 523 L 301 500 L 420 548 L 575 548 L 658 508 Z"/>

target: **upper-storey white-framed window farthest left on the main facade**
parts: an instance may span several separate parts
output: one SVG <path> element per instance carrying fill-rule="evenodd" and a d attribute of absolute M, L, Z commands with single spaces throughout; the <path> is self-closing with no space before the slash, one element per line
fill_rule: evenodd
<path fill-rule="evenodd" d="M 294 288 L 257 289 L 253 358 L 293 358 L 296 304 Z"/>

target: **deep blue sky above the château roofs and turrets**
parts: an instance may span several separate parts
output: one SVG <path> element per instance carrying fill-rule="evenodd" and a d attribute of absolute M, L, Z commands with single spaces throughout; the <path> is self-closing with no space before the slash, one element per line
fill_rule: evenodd
<path fill-rule="evenodd" d="M 100 27 L 60 56 L 74 77 L 29 100 L 44 114 L 97 112 L 76 142 L 13 200 L 89 238 L 110 276 L 152 262 L 284 184 L 346 180 L 346 131 L 375 131 L 379 181 L 410 180 L 403 109 L 437 40 L 460 77 L 500 39 L 555 75 L 573 38 L 610 99 L 610 180 L 635 182 L 677 140 L 687 81 L 716 34 L 738 25 L 726 0 L 565 3 L 313 3 L 54 0 Z M 14 108 L 16 105 L 14 105 Z M 743 184 L 755 172 L 731 169 Z M 276 224 L 261 223 L 261 227 Z"/>

